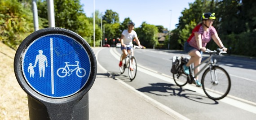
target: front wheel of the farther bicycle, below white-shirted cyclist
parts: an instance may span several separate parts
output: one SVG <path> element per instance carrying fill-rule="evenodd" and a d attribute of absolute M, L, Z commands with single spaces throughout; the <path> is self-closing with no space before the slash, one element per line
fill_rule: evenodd
<path fill-rule="evenodd" d="M 137 62 L 134 56 L 129 61 L 129 68 L 128 68 L 128 74 L 130 77 L 130 80 L 132 81 L 137 73 Z"/>

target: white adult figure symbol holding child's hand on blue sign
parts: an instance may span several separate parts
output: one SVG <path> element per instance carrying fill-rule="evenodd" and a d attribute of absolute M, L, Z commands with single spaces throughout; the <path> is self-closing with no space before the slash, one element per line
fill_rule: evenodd
<path fill-rule="evenodd" d="M 34 67 L 36 67 L 36 64 L 38 62 L 38 69 L 39 69 L 40 77 L 42 77 L 42 73 L 43 73 L 43 77 L 44 77 L 45 67 L 48 66 L 47 57 L 43 55 L 42 50 L 39 50 L 38 52 L 39 52 L 39 54 L 36 55 Z"/>

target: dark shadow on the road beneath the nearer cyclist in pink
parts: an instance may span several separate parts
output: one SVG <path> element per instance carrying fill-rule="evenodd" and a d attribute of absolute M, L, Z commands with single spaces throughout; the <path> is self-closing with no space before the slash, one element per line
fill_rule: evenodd
<path fill-rule="evenodd" d="M 216 100 L 207 98 L 206 96 L 195 94 L 196 92 L 189 89 L 183 89 L 179 86 L 168 83 L 151 83 L 150 86 L 146 86 L 137 89 L 140 92 L 147 92 L 158 96 L 179 96 L 192 101 L 204 104 L 218 104 Z M 167 94 L 168 93 L 168 94 Z"/>

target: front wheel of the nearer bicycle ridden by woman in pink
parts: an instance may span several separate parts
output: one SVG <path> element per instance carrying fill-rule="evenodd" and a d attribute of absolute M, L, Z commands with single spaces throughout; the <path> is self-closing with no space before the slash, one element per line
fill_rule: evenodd
<path fill-rule="evenodd" d="M 204 93 L 213 100 L 223 99 L 229 92 L 231 80 L 225 69 L 219 66 L 207 68 L 202 76 Z"/>

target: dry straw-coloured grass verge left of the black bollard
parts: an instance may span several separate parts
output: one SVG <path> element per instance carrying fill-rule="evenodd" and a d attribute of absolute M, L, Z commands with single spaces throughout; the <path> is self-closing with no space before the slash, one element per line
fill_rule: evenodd
<path fill-rule="evenodd" d="M 13 70 L 15 52 L 0 43 L 0 120 L 29 120 L 27 95 Z"/>

